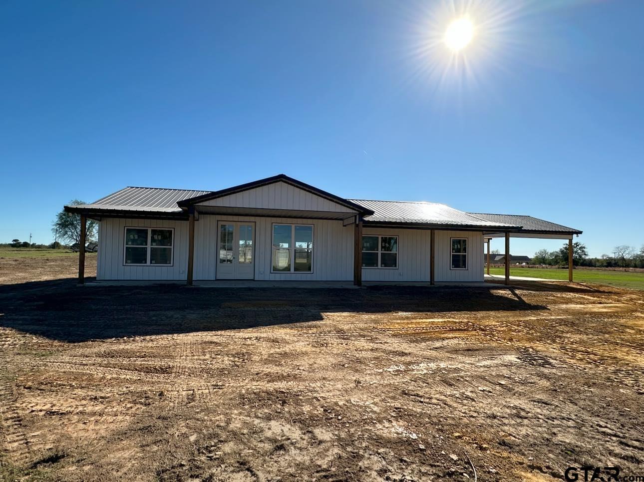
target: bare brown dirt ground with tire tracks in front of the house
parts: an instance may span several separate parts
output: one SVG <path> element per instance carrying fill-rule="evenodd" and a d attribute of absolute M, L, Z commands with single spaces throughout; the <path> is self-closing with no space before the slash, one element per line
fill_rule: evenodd
<path fill-rule="evenodd" d="M 6 479 L 644 475 L 643 292 L 77 287 L 29 263 L 0 263 Z"/>

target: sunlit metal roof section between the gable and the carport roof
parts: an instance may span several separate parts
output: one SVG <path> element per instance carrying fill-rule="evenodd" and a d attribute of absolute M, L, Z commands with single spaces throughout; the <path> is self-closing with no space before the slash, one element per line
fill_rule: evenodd
<path fill-rule="evenodd" d="M 417 223 L 431 225 L 455 225 L 481 228 L 520 228 L 521 225 L 478 218 L 440 203 L 425 201 L 377 201 L 373 199 L 349 199 L 374 211 L 365 216 L 366 223 Z"/>

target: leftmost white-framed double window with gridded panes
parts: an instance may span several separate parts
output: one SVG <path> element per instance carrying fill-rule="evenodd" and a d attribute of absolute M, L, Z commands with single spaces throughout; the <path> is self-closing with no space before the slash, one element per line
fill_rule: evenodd
<path fill-rule="evenodd" d="M 172 266 L 174 228 L 125 228 L 123 264 L 126 266 Z"/>

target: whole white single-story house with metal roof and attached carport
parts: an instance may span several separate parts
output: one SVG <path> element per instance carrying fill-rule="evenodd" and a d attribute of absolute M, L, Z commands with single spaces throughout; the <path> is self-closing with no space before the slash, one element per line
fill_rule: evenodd
<path fill-rule="evenodd" d="M 98 280 L 480 282 L 491 237 L 509 252 L 511 236 L 572 246 L 581 234 L 530 216 L 345 199 L 284 174 L 212 192 L 126 187 L 64 209 L 99 221 Z"/>

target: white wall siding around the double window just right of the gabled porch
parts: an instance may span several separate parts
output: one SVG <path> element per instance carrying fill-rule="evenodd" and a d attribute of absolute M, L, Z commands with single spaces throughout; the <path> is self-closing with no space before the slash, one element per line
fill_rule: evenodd
<path fill-rule="evenodd" d="M 430 230 L 363 228 L 363 235 L 398 236 L 398 269 L 363 268 L 363 281 L 430 281 Z"/>

